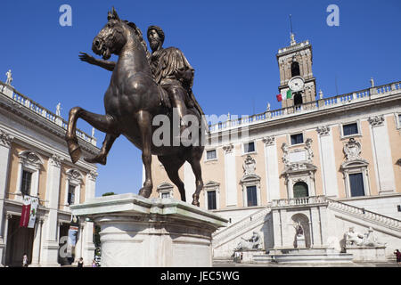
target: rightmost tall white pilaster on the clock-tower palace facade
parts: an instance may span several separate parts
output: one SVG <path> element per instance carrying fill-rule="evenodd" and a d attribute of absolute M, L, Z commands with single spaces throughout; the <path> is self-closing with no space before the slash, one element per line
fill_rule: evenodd
<path fill-rule="evenodd" d="M 383 115 L 368 119 L 372 127 L 372 148 L 379 179 L 379 194 L 396 191 L 389 132 L 385 120 Z"/>

